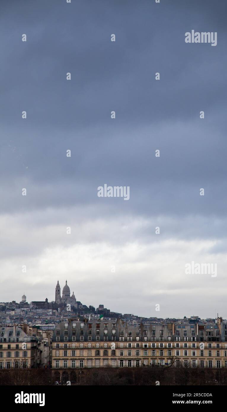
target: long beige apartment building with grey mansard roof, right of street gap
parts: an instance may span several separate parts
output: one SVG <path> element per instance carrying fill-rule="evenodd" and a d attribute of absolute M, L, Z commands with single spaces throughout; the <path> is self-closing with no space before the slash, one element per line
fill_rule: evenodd
<path fill-rule="evenodd" d="M 53 333 L 52 368 L 149 365 L 227 368 L 227 324 L 127 325 L 116 320 L 68 319 Z"/>

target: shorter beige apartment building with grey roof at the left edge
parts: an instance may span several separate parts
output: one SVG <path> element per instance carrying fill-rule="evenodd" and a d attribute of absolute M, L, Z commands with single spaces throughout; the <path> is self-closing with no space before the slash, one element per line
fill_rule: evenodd
<path fill-rule="evenodd" d="M 40 363 L 40 342 L 18 326 L 0 328 L 0 369 L 35 368 Z"/>

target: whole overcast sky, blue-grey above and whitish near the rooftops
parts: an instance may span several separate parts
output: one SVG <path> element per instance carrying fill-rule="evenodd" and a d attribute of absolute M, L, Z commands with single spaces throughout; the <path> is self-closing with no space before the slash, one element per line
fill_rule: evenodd
<path fill-rule="evenodd" d="M 226 12 L 226 0 L 1 2 L 0 301 L 52 301 L 67 279 L 87 306 L 227 318 Z M 217 46 L 186 44 L 192 29 Z M 99 198 L 105 183 L 130 199 Z M 192 261 L 217 276 L 186 275 Z"/>

